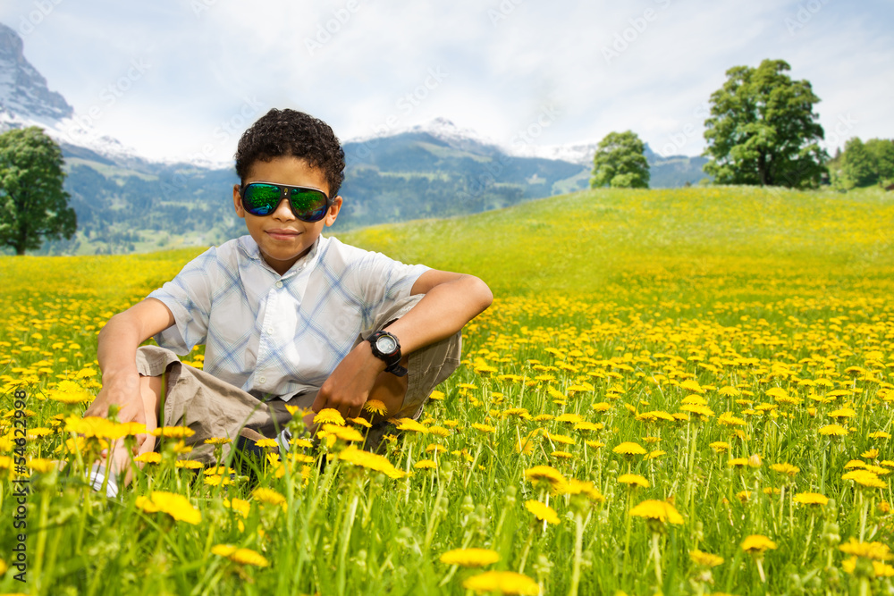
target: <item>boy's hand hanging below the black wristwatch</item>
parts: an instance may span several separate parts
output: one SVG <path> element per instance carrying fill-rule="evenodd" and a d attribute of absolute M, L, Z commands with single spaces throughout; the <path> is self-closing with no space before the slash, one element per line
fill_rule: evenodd
<path fill-rule="evenodd" d="M 331 407 L 345 418 L 356 418 L 384 369 L 385 363 L 373 356 L 369 342 L 361 341 L 323 383 L 312 406 L 314 412 Z"/>

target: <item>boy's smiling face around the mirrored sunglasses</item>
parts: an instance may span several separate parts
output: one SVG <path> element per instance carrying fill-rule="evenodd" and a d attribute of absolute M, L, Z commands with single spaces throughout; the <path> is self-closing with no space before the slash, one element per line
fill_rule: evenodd
<path fill-rule="evenodd" d="M 323 171 L 292 156 L 274 157 L 269 162 L 255 162 L 251 165 L 249 176 L 243 181 L 246 185 L 252 182 L 274 182 L 312 187 L 329 194 L 329 185 Z M 342 197 L 334 197 L 329 212 L 322 220 L 302 222 L 291 212 L 289 201 L 283 199 L 272 214 L 252 215 L 242 207 L 239 185 L 232 189 L 232 202 L 236 207 L 236 214 L 245 220 L 251 238 L 261 249 L 261 256 L 280 275 L 289 271 L 291 265 L 308 254 L 324 226 L 331 226 L 342 208 Z"/>

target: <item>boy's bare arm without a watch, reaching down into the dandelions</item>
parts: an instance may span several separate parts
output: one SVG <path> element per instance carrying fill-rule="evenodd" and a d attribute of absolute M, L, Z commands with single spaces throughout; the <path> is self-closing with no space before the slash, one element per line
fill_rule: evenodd
<path fill-rule="evenodd" d="M 174 323 L 171 311 L 161 300 L 146 298 L 105 323 L 97 338 L 97 360 L 103 373 L 103 388 L 84 416 L 108 416 L 112 405 L 121 407 L 120 422 L 146 424 L 139 393 L 137 348 L 143 341 Z"/>

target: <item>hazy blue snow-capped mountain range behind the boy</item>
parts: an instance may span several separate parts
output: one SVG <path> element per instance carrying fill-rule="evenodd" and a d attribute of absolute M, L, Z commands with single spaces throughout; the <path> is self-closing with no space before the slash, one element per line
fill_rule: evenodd
<path fill-rule="evenodd" d="M 245 232 L 232 210 L 229 164 L 166 163 L 97 133 L 25 59 L 0 24 L 0 132 L 39 126 L 63 149 L 65 189 L 78 216 L 72 240 L 42 254 L 145 252 L 219 244 Z M 596 143 L 504 147 L 443 118 L 343 144 L 345 206 L 333 231 L 440 218 L 586 189 Z M 652 186 L 704 178 L 704 158 L 647 154 Z"/>

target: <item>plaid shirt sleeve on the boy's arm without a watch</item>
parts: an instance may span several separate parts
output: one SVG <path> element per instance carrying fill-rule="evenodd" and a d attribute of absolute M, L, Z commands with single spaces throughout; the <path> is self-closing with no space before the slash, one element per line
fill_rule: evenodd
<path fill-rule="evenodd" d="M 194 258 L 180 273 L 148 298 L 156 298 L 171 309 L 174 324 L 154 339 L 162 348 L 173 350 L 181 356 L 189 354 L 192 348 L 204 344 L 208 334 L 208 319 L 211 300 L 215 288 L 217 254 L 216 248 Z"/>

